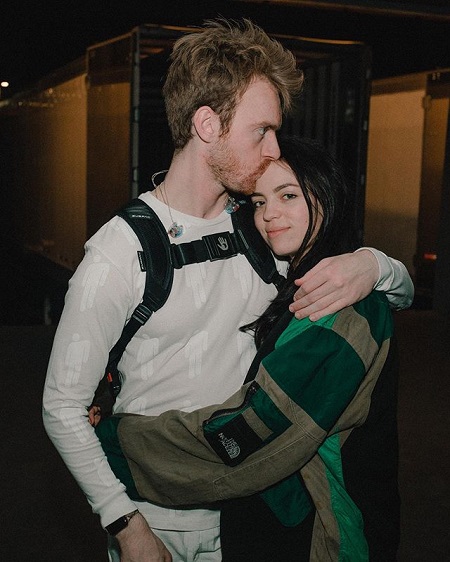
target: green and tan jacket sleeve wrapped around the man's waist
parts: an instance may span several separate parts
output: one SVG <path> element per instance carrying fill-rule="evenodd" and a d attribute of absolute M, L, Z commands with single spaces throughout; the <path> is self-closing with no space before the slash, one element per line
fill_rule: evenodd
<path fill-rule="evenodd" d="M 251 495 L 303 467 L 329 433 L 363 423 L 392 330 L 382 300 L 376 327 L 354 307 L 307 329 L 294 319 L 255 381 L 220 406 L 123 418 L 139 494 L 170 506 Z"/>

